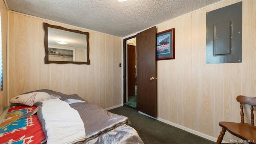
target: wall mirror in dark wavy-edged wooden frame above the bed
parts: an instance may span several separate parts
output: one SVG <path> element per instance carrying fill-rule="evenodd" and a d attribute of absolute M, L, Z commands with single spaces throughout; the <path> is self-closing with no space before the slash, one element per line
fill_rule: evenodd
<path fill-rule="evenodd" d="M 44 23 L 44 63 L 90 64 L 89 33 Z"/>

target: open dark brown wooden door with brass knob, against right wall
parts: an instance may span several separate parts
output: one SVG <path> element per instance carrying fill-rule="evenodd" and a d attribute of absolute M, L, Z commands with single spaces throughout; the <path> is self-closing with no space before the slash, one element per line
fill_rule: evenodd
<path fill-rule="evenodd" d="M 156 117 L 156 26 L 136 35 L 137 110 Z"/>

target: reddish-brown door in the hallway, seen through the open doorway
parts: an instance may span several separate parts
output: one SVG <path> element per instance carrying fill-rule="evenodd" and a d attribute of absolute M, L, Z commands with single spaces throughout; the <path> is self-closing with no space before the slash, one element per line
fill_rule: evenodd
<path fill-rule="evenodd" d="M 134 96 L 135 95 L 135 61 L 136 61 L 136 54 L 135 54 L 135 46 L 132 45 L 127 45 L 127 58 L 128 58 L 128 74 L 127 74 L 127 79 L 128 79 L 128 96 Z"/>

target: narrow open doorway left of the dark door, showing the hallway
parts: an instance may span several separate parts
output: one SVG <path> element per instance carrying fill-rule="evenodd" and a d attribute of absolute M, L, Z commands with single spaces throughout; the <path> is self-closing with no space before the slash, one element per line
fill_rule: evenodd
<path fill-rule="evenodd" d="M 124 105 L 137 109 L 136 36 L 124 39 Z"/>

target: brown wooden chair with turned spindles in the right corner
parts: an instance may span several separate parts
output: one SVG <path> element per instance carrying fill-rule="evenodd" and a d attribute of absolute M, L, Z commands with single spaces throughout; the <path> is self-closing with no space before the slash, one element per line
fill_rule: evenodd
<path fill-rule="evenodd" d="M 219 122 L 219 126 L 222 127 L 222 130 L 220 131 L 220 135 L 218 137 L 216 144 L 221 144 L 226 130 L 228 132 L 230 132 L 231 134 L 233 134 L 234 136 L 237 136 L 238 138 L 245 140 L 245 142 L 248 142 L 249 144 L 256 143 L 256 126 L 254 126 L 254 114 L 253 114 L 253 111 L 254 111 L 253 106 L 256 106 L 256 97 L 249 98 L 247 96 L 237 96 L 236 100 L 238 102 L 240 102 L 241 122 L 240 123 Z M 244 106 L 243 106 L 243 104 L 251 105 L 251 108 L 250 108 L 251 109 L 251 115 L 250 115 L 251 124 L 244 122 L 244 111 L 243 111 Z M 238 143 L 238 142 L 232 142 L 232 143 Z"/>

